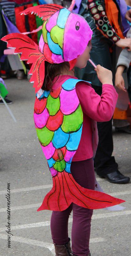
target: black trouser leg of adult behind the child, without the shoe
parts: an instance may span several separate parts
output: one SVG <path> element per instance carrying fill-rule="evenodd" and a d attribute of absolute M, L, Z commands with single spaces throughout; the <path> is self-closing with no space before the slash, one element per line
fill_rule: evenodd
<path fill-rule="evenodd" d="M 102 87 L 93 86 L 95 92 L 102 93 Z M 95 156 L 95 168 L 98 175 L 102 176 L 114 172 L 118 168 L 113 152 L 112 119 L 108 122 L 98 122 L 99 143 Z"/>

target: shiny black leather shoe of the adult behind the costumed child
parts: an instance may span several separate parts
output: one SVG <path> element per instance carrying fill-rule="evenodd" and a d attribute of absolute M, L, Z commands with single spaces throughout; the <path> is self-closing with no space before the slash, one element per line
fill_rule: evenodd
<path fill-rule="evenodd" d="M 130 181 L 129 177 L 124 176 L 118 170 L 115 172 L 111 172 L 111 173 L 105 174 L 103 176 L 100 176 L 100 178 L 106 178 L 109 182 L 117 183 L 117 184 L 126 184 Z"/>

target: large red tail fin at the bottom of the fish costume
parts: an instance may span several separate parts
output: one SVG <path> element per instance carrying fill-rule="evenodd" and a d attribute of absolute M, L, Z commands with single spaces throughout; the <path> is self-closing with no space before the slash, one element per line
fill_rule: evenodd
<path fill-rule="evenodd" d="M 88 209 L 101 209 L 125 202 L 103 192 L 81 187 L 71 173 L 58 172 L 53 177 L 53 187 L 37 209 L 64 211 L 71 203 Z"/>

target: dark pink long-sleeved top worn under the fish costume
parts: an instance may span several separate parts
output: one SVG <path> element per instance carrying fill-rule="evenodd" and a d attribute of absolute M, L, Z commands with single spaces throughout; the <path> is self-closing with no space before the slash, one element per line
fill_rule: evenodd
<path fill-rule="evenodd" d="M 69 78 L 77 79 L 69 75 L 60 76 L 58 81 L 54 80 L 52 89 L 59 88 Z M 91 119 L 97 122 L 109 121 L 114 114 L 118 93 L 113 85 L 103 84 L 100 96 L 85 82 L 76 84 L 76 93 L 83 111 L 83 127 L 79 146 L 72 161 L 82 161 L 93 157 Z"/>

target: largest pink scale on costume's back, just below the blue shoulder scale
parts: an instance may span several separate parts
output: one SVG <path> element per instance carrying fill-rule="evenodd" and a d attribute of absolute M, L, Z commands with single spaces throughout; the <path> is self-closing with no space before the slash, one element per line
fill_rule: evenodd
<path fill-rule="evenodd" d="M 73 99 L 73 100 L 72 100 Z M 79 99 L 76 97 L 75 90 L 60 92 L 60 110 L 64 115 L 69 115 L 76 110 L 79 105 Z"/>

